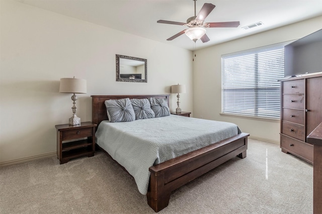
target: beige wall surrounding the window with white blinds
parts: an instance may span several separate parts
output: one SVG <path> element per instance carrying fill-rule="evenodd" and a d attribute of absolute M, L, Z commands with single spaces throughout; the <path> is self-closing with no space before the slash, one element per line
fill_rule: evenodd
<path fill-rule="evenodd" d="M 237 124 L 251 136 L 279 142 L 278 120 L 223 116 L 221 113 L 221 55 L 304 37 L 322 28 L 322 17 L 197 50 L 193 63 L 195 118 Z"/>

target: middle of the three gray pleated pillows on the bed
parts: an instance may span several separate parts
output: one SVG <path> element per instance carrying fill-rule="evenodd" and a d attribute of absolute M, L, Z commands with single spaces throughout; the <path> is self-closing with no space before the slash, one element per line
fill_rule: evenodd
<path fill-rule="evenodd" d="M 130 99 L 135 113 L 135 120 L 154 118 L 148 99 Z"/>

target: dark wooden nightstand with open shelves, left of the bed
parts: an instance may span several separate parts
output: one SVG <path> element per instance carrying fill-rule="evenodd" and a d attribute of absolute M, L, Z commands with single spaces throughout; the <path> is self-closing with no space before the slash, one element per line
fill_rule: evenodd
<path fill-rule="evenodd" d="M 57 158 L 60 164 L 67 163 L 71 158 L 81 156 L 92 157 L 95 153 L 95 127 L 92 122 L 79 125 L 56 125 Z"/>

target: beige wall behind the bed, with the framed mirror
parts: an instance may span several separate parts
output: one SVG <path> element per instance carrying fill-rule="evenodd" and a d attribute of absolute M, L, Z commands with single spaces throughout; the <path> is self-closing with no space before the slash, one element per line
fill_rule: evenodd
<path fill-rule="evenodd" d="M 77 116 L 92 120 L 91 94 L 164 94 L 187 85 L 192 111 L 192 52 L 16 1 L 1 4 L 0 163 L 56 152 L 56 124 L 71 117 L 71 94 L 59 79 L 87 79 Z M 115 81 L 115 54 L 147 59 L 147 83 Z M 171 111 L 176 94 L 171 95 Z"/>

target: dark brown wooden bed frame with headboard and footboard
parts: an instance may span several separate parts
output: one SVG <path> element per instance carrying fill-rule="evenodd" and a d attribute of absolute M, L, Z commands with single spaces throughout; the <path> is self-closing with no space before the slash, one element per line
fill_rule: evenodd
<path fill-rule="evenodd" d="M 104 103 L 105 100 L 126 97 L 130 99 L 150 97 L 167 98 L 169 105 L 170 95 L 92 95 L 93 123 L 99 125 L 103 120 L 108 119 Z M 155 212 L 158 212 L 168 206 L 173 190 L 235 156 L 246 158 L 248 136 L 249 134 L 247 133 L 241 133 L 150 167 L 150 182 L 146 194 L 149 206 Z M 124 169 L 124 167 L 122 168 Z"/>

